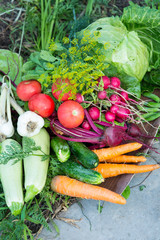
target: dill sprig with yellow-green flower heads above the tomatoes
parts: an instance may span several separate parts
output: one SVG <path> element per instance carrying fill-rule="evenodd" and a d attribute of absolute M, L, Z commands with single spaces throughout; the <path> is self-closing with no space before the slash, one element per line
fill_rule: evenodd
<path fill-rule="evenodd" d="M 69 79 L 70 84 L 56 82 L 57 89 L 54 92 L 62 90 L 60 98 L 67 92 L 71 93 L 69 99 L 75 99 L 78 92 L 82 95 L 91 94 L 98 83 L 97 79 L 104 75 L 108 67 L 104 62 L 103 48 L 87 33 L 81 40 L 65 37 L 61 44 L 52 40 L 49 50 L 57 61 L 47 64 L 48 70 L 40 76 L 39 81 L 47 89 L 57 79 Z"/>

